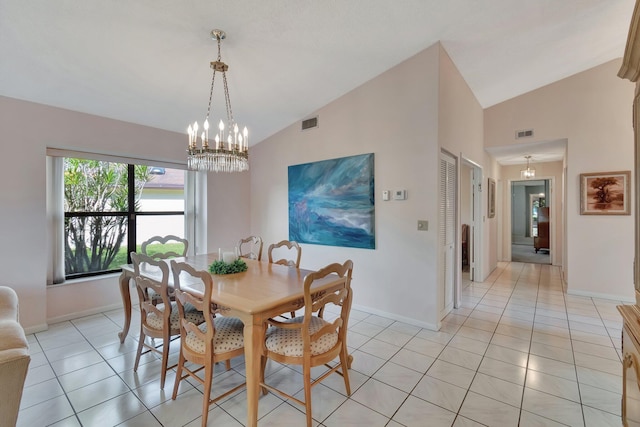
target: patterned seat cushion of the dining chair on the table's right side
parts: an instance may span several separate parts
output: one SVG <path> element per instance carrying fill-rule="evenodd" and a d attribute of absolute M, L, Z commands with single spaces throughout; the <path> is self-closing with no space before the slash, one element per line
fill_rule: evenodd
<path fill-rule="evenodd" d="M 302 323 L 304 316 L 288 319 L 283 323 Z M 309 324 L 309 333 L 318 332 L 328 322 L 320 317 L 311 317 Z M 338 342 L 338 333 L 331 332 L 322 335 L 316 341 L 311 342 L 311 355 L 326 353 L 331 350 Z M 281 354 L 283 356 L 302 357 L 303 342 L 302 331 L 300 329 L 284 329 L 277 326 L 267 329 L 265 345 L 267 350 Z"/>

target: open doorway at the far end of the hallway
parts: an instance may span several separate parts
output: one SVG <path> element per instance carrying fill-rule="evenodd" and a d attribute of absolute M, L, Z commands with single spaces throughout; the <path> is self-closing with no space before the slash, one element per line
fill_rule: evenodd
<path fill-rule="evenodd" d="M 551 181 L 511 182 L 511 261 L 551 264 Z"/>

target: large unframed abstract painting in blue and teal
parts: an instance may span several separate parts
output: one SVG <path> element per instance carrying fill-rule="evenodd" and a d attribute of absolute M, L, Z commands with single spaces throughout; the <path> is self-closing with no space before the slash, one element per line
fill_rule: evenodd
<path fill-rule="evenodd" d="M 373 157 L 289 166 L 289 240 L 375 249 Z"/>

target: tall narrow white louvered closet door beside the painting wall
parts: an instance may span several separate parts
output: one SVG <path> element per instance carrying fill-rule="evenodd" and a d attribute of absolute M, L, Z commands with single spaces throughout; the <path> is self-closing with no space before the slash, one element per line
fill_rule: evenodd
<path fill-rule="evenodd" d="M 440 191 L 438 203 L 438 246 L 440 249 L 439 274 L 443 295 L 439 304 L 440 318 L 453 308 L 456 239 L 456 159 L 440 153 Z"/>

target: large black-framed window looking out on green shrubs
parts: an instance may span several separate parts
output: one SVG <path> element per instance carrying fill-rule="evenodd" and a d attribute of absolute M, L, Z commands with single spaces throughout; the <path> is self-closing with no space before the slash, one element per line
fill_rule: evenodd
<path fill-rule="evenodd" d="M 65 278 L 118 271 L 153 235 L 184 237 L 185 172 L 64 159 Z"/>

